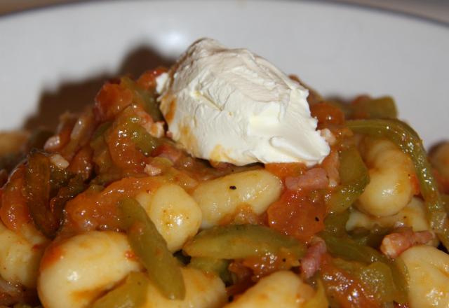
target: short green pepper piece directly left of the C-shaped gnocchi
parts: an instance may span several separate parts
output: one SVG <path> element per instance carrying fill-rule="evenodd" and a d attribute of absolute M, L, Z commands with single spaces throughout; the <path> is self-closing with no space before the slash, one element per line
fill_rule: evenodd
<path fill-rule="evenodd" d="M 351 206 L 370 183 L 370 176 L 356 148 L 340 151 L 340 180 L 327 200 L 331 212 L 340 213 Z"/>

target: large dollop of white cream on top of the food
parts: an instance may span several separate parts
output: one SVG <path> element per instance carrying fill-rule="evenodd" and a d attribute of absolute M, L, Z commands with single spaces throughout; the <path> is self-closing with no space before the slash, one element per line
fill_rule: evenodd
<path fill-rule="evenodd" d="M 308 90 L 246 49 L 203 38 L 156 82 L 168 131 L 196 158 L 311 166 L 329 154 Z"/>

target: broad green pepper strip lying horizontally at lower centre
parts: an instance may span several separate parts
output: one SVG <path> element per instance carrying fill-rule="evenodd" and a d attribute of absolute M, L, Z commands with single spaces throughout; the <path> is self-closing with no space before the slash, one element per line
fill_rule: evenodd
<path fill-rule="evenodd" d="M 297 239 L 262 225 L 225 225 L 199 232 L 183 250 L 192 257 L 238 259 L 282 252 L 301 258 L 305 247 Z"/>

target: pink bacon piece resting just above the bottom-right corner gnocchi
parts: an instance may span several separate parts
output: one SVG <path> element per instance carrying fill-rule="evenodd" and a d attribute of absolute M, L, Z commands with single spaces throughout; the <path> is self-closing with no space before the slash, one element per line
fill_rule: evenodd
<path fill-rule="evenodd" d="M 416 245 L 427 244 L 435 238 L 430 231 L 413 232 L 410 228 L 404 228 L 400 232 L 391 233 L 382 239 L 380 251 L 390 258 L 397 258 L 408 248 Z"/>

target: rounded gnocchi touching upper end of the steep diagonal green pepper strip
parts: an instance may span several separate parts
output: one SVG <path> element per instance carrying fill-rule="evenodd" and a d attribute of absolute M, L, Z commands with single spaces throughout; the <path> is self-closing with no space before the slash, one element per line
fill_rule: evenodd
<path fill-rule="evenodd" d="M 144 207 L 171 252 L 179 250 L 194 237 L 201 225 L 201 209 L 180 186 L 165 184 L 136 198 Z"/>

